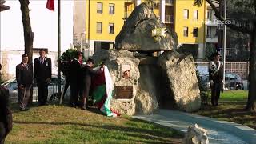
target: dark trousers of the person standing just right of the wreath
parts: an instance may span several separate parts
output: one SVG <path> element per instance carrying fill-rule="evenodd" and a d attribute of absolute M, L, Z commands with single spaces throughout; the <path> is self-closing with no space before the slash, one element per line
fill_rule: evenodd
<path fill-rule="evenodd" d="M 71 97 L 70 97 L 70 106 L 78 106 L 78 95 L 79 88 L 77 82 L 70 83 Z"/>

